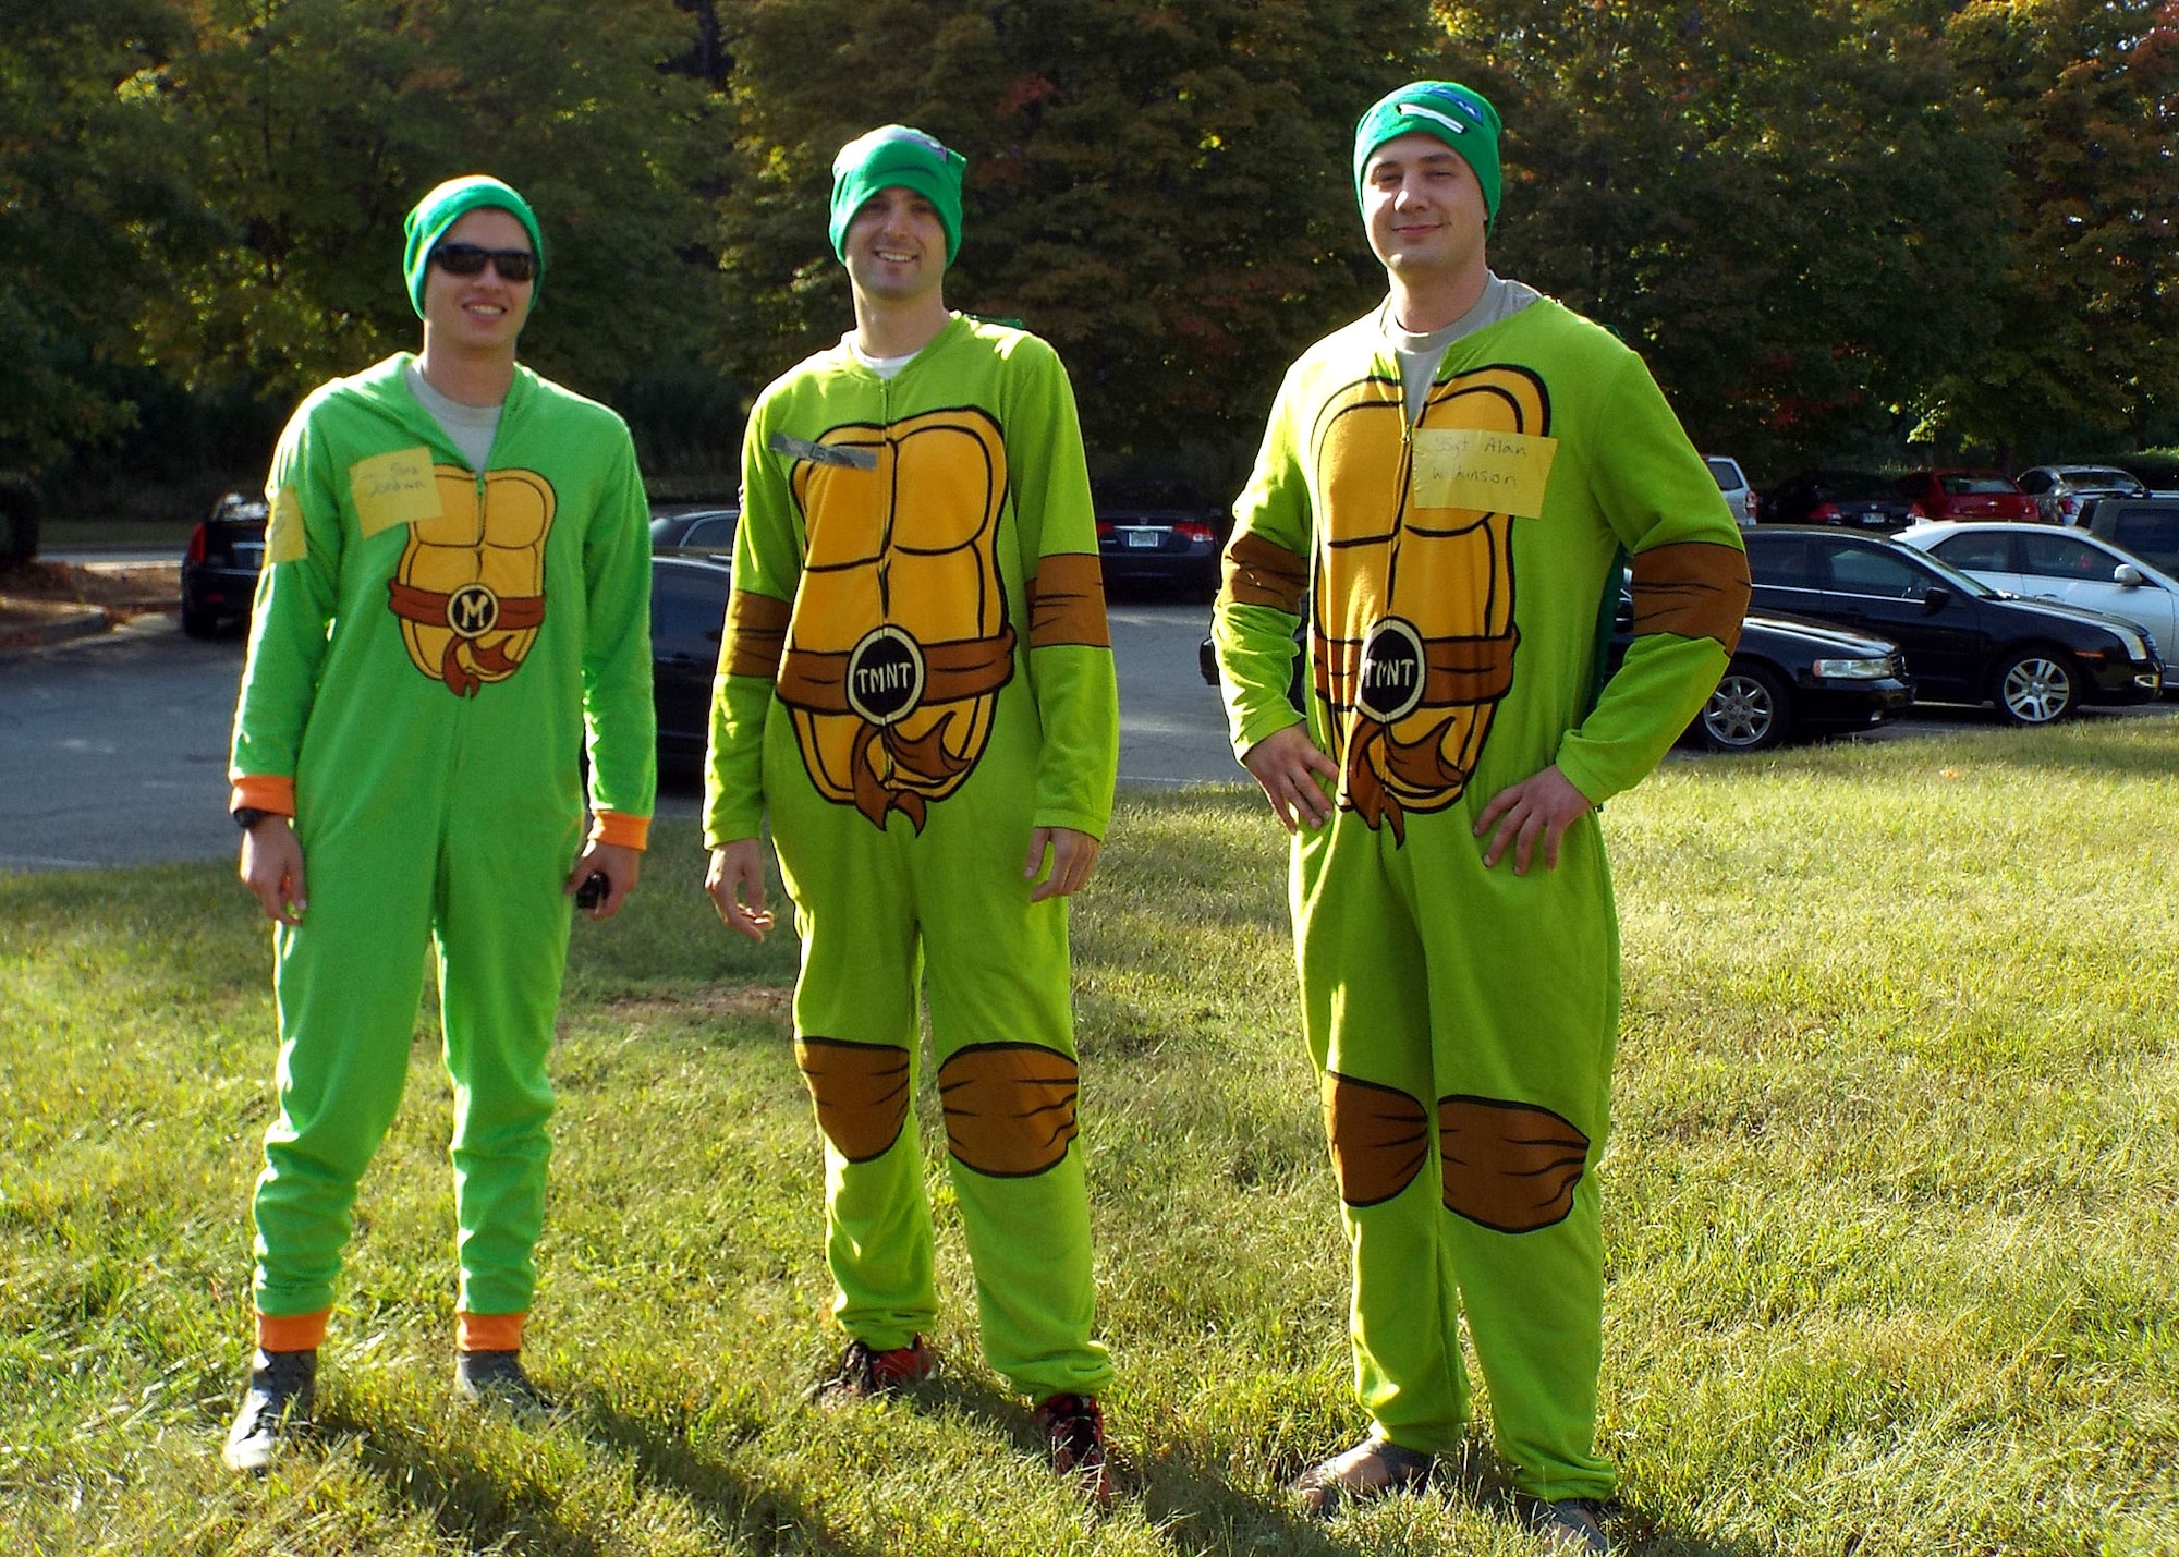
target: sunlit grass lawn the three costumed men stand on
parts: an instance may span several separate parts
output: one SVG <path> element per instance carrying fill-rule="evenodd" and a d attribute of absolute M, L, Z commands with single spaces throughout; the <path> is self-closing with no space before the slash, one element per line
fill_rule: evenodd
<path fill-rule="evenodd" d="M 1621 1550 L 2179 1550 L 2179 722 L 1671 763 L 1610 805 L 1628 1010 L 1604 1160 Z M 266 933 L 229 870 L 0 879 L 0 1550 L 1475 1553 L 1488 1435 L 1310 1526 L 1360 1426 L 1294 1034 L 1283 840 L 1129 798 L 1076 909 L 1107 1400 L 1096 1522 L 976 1356 L 933 1099 L 939 1383 L 817 1413 L 821 1162 L 789 944 L 730 944 L 689 824 L 577 925 L 529 1361 L 449 1404 L 436 1031 L 360 1202 L 318 1437 L 216 1459 L 246 1356 Z M 776 942 L 784 942 L 780 936 Z M 1488 1411 L 1488 1402 L 1484 1402 Z"/>

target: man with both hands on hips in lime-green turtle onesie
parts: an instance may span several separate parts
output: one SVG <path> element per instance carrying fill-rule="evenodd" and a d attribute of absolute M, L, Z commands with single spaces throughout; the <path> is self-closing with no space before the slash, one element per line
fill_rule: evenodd
<path fill-rule="evenodd" d="M 1595 807 L 1702 709 L 1748 569 L 1641 358 L 1490 273 L 1497 146 L 1497 111 L 1453 83 L 1362 118 L 1388 297 L 1288 371 L 1214 637 L 1233 748 L 1297 833 L 1303 1029 L 1375 1424 L 1303 1498 L 1414 1485 L 1462 1441 L 1464 1308 L 1525 1507 L 1606 1550 L 1593 1169 L 1619 944 Z M 1626 558 L 1636 637 L 1604 683 Z"/>

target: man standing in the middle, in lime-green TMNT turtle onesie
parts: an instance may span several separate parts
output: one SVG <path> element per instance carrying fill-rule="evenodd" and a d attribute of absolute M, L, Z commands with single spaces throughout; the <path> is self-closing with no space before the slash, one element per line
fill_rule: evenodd
<path fill-rule="evenodd" d="M 1066 896 L 1111 818 L 1118 689 L 1066 369 L 948 312 L 963 159 L 889 124 L 832 164 L 854 329 L 758 397 L 713 700 L 708 888 L 760 938 L 765 813 L 802 936 L 795 1058 L 850 1345 L 826 1400 L 930 1367 L 917 988 L 983 1348 L 1111 1496 L 1074 1147 Z"/>

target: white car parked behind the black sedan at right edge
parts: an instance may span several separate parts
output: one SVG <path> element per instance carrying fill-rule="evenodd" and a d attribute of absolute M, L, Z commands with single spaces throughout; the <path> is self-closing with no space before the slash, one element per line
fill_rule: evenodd
<path fill-rule="evenodd" d="M 2159 656 L 2179 645 L 2179 578 L 2094 534 L 2044 523 L 1918 523 L 1891 539 L 2009 595 L 2125 617 Z"/>

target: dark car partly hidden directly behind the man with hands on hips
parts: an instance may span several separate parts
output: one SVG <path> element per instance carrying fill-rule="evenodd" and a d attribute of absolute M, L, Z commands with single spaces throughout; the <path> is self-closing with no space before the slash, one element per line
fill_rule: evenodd
<path fill-rule="evenodd" d="M 1303 709 L 1305 674 L 1299 652 L 1286 698 Z M 1608 654 L 1617 672 L 1634 641 L 1634 602 L 1619 598 L 1619 621 Z M 1218 685 L 1212 641 L 1196 650 L 1203 680 Z M 1822 621 L 1748 617 L 1732 663 L 1717 691 L 1687 726 L 1682 739 L 1700 739 L 1719 752 L 1761 752 L 1785 741 L 1817 735 L 1872 731 L 1913 704 L 1913 683 L 1896 643 L 1861 632 L 1841 632 Z"/>

